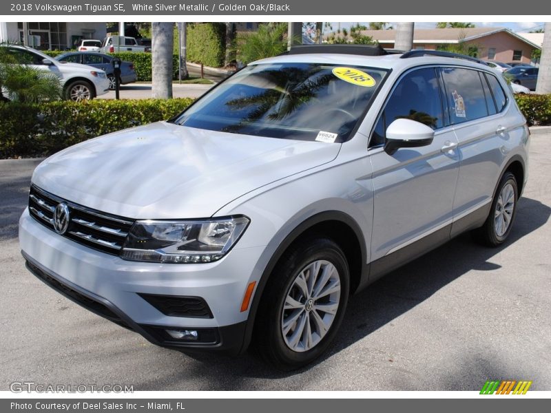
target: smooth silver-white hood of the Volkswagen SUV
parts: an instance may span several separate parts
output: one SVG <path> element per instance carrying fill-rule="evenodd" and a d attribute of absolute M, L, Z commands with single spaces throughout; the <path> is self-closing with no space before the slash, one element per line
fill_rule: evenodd
<path fill-rule="evenodd" d="M 340 147 L 158 122 L 64 149 L 32 182 L 127 218 L 207 218 L 249 191 L 331 162 Z"/>

